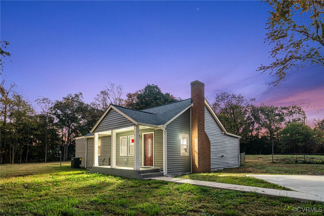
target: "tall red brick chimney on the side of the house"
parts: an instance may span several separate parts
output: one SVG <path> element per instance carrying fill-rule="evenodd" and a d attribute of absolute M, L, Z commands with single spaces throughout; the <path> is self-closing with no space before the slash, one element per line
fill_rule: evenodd
<path fill-rule="evenodd" d="M 193 173 L 210 172 L 210 140 L 205 132 L 205 84 L 190 83 L 191 99 L 191 166 Z"/>

